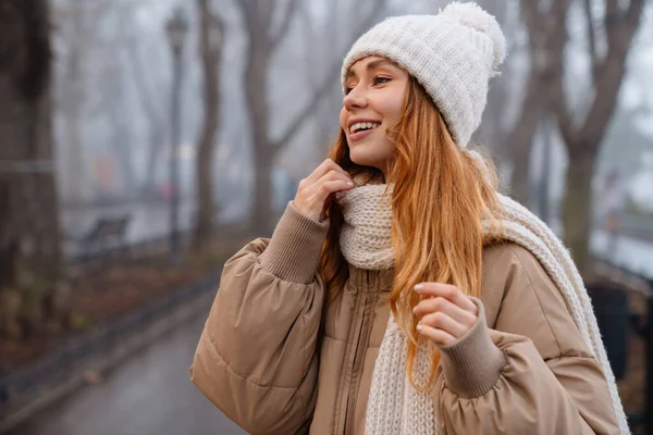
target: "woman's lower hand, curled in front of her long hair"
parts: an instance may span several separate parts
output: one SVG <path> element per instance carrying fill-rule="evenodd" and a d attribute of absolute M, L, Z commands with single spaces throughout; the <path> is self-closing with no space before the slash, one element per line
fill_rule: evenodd
<path fill-rule="evenodd" d="M 412 310 L 417 331 L 436 346 L 454 344 L 476 325 L 479 308 L 456 286 L 422 283 L 415 291 L 424 297 Z"/>

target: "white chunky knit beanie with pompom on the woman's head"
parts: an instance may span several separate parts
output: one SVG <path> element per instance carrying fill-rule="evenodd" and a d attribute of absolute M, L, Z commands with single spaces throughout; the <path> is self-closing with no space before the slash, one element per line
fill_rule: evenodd
<path fill-rule="evenodd" d="M 488 82 L 505 54 L 506 40 L 494 16 L 476 3 L 453 2 L 438 15 L 386 18 L 358 38 L 343 63 L 343 88 L 360 59 L 390 59 L 424 87 L 454 140 L 465 148 L 481 124 Z"/>

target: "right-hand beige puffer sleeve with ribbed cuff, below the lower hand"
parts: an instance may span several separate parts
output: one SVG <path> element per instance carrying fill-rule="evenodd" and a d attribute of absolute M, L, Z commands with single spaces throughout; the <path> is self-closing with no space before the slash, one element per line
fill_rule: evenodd
<path fill-rule="evenodd" d="M 538 260 L 505 245 L 485 269 L 479 322 L 441 349 L 441 434 L 619 433 L 607 381 Z M 489 327 L 492 326 L 492 327 Z"/>

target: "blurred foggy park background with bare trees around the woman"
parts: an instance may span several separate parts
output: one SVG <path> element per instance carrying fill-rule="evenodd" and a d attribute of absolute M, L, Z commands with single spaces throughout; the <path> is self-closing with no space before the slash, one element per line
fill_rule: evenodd
<path fill-rule="evenodd" d="M 242 434 L 188 366 L 223 262 L 338 132 L 342 59 L 422 0 L 0 0 L 0 433 Z M 478 0 L 473 141 L 571 249 L 653 433 L 653 2 Z"/>

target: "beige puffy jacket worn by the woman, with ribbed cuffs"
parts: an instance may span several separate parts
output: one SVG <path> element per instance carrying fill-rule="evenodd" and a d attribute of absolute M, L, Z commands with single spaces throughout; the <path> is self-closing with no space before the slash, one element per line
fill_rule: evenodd
<path fill-rule="evenodd" d="M 326 229 L 289 203 L 270 240 L 224 266 L 190 377 L 248 433 L 364 433 L 393 276 L 349 266 L 325 309 Z M 618 433 L 601 368 L 529 251 L 485 248 L 482 302 L 479 324 L 442 351 L 441 433 Z"/>

